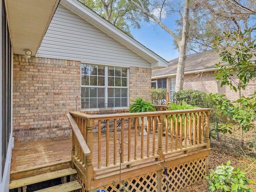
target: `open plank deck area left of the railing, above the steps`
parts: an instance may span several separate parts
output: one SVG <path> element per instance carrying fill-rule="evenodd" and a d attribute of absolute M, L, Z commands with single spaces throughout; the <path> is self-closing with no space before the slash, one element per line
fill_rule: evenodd
<path fill-rule="evenodd" d="M 72 138 L 14 143 L 10 179 L 71 166 Z"/>

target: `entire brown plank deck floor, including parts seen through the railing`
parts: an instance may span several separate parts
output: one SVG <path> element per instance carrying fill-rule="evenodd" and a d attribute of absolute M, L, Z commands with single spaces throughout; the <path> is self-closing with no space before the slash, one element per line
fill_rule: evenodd
<path fill-rule="evenodd" d="M 138 131 L 138 143 L 141 143 L 141 136 L 139 135 L 140 131 Z M 134 134 L 134 130 L 132 130 L 132 134 Z M 124 160 L 128 159 L 128 130 L 124 132 Z M 152 140 L 153 134 L 149 134 L 150 140 Z M 117 140 L 120 138 L 117 138 Z M 147 136 L 144 136 L 144 140 L 147 140 Z M 131 156 L 135 158 L 135 147 L 134 138 L 131 140 L 132 143 L 132 151 Z M 144 142 L 144 154 L 146 154 L 147 143 Z M 155 147 L 157 148 L 158 142 L 155 143 Z M 109 152 L 108 156 L 110 158 L 110 162 L 113 162 L 114 158 L 114 133 L 110 132 L 109 134 Z M 152 142 L 150 142 L 150 146 L 152 147 Z M 120 144 L 116 142 L 116 153 L 120 148 Z M 140 154 L 141 148 L 138 148 L 137 152 Z M 24 176 L 33 176 L 35 174 L 46 172 L 48 169 L 55 170 L 61 168 L 68 168 L 71 166 L 71 151 L 72 151 L 72 137 L 70 138 L 55 138 L 55 139 L 43 139 L 38 141 L 29 141 L 29 142 L 20 142 L 14 144 L 14 149 L 12 150 L 12 162 L 11 162 L 11 180 L 22 178 Z M 98 169 L 98 133 L 93 134 L 93 166 L 94 170 L 100 171 Z M 101 133 L 101 170 L 106 170 L 106 135 L 105 133 Z M 117 162 L 120 160 L 120 154 L 116 154 Z M 138 157 L 140 158 L 140 157 Z M 110 164 L 109 168 L 113 164 Z M 116 165 L 116 167 L 118 167 Z"/>

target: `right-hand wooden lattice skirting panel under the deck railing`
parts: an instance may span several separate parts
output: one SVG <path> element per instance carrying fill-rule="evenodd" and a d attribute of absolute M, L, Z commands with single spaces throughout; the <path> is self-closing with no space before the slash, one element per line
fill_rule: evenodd
<path fill-rule="evenodd" d="M 206 175 L 206 157 L 168 168 L 169 191 L 178 191 L 201 180 Z M 167 191 L 166 178 L 162 172 L 162 192 Z"/>

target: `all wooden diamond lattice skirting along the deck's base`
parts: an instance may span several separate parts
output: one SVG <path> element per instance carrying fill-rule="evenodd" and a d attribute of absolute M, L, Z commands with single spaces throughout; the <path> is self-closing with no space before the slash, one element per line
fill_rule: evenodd
<path fill-rule="evenodd" d="M 176 192 L 202 180 L 206 175 L 206 168 L 207 157 L 167 168 L 169 191 Z M 159 176 L 161 178 L 158 178 Z M 158 181 L 161 182 L 158 183 Z M 121 182 L 121 186 L 119 182 L 113 182 L 107 186 L 100 186 L 98 189 L 105 189 L 107 192 L 119 192 L 120 187 L 121 192 L 158 192 L 158 188 L 161 188 L 161 192 L 166 192 L 167 186 L 164 169 L 124 180 Z M 84 189 L 82 192 L 87 192 Z"/>

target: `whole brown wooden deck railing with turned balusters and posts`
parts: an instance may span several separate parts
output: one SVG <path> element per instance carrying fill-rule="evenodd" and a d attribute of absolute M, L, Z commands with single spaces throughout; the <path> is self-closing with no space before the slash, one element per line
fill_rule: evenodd
<path fill-rule="evenodd" d="M 162 161 L 177 152 L 210 148 L 210 109 L 161 109 L 164 111 L 107 115 L 70 112 L 90 150 L 87 153 L 79 139 L 72 136 L 74 160 L 86 168 L 86 180 L 93 178 L 95 170 L 118 167 L 120 162 L 129 168 L 145 160 Z M 104 120 L 106 134 L 101 130 Z M 120 120 L 121 126 L 117 127 Z M 93 128 L 94 132 L 98 128 L 98 133 L 93 133 Z M 144 129 L 147 135 L 140 134 Z"/>

